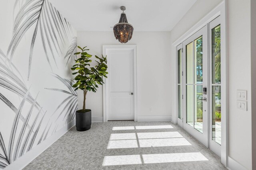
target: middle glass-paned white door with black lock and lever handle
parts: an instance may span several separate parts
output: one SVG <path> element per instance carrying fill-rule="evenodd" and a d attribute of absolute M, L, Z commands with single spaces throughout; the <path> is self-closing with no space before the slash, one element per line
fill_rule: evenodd
<path fill-rule="evenodd" d="M 183 42 L 183 128 L 208 147 L 208 25 Z"/>

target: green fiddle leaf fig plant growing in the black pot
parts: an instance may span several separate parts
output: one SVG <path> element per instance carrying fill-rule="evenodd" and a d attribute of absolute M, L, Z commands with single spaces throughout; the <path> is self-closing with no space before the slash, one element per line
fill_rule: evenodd
<path fill-rule="evenodd" d="M 87 47 L 87 46 L 86 46 Z M 95 55 L 96 66 L 90 66 L 92 60 L 90 59 L 92 55 L 87 53 L 89 49 L 86 47 L 79 47 L 81 52 L 74 53 L 75 55 L 81 55 L 79 59 L 76 60 L 76 64 L 71 68 L 71 70 L 75 70 L 76 72 L 72 73 L 76 75 L 74 80 L 76 83 L 72 86 L 75 88 L 75 91 L 78 89 L 83 90 L 84 92 L 84 101 L 83 101 L 83 109 L 78 110 L 78 112 L 87 112 L 89 109 L 86 109 L 86 94 L 88 91 L 96 92 L 98 85 L 103 85 L 102 76 L 107 78 L 108 72 L 106 72 L 107 66 L 107 57 L 102 55 L 102 58 Z"/>

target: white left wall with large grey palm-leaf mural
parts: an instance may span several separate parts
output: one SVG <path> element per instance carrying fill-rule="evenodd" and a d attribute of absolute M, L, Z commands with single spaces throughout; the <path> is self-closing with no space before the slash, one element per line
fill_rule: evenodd
<path fill-rule="evenodd" d="M 18 4 L 14 8 L 15 2 L 18 2 Z M 70 126 L 74 125 L 74 120 L 72 119 L 74 119 L 73 115 L 75 115 L 77 106 L 77 94 L 75 92 L 72 93 L 71 84 L 64 84 L 54 76 L 54 74 L 58 74 L 64 81 L 72 79 L 70 70 L 72 58 L 64 60 L 64 56 L 72 42 L 74 42 L 74 47 L 76 47 L 76 41 L 73 41 L 76 39 L 76 30 L 68 22 L 65 22 L 62 25 L 62 30 L 58 31 L 54 26 L 53 20 L 47 19 L 48 24 L 51 23 L 53 25 L 52 27 L 54 27 L 54 32 L 56 33 L 56 37 L 54 36 L 53 39 L 48 41 L 47 36 L 50 37 L 49 33 L 53 31 L 48 30 L 46 19 L 42 19 L 43 16 L 46 16 L 44 14 L 45 11 L 42 10 L 43 8 L 40 8 L 41 6 L 45 7 L 46 3 L 49 3 L 48 0 L 37 4 L 38 8 L 33 8 L 32 6 L 33 3 L 38 3 L 38 0 L 31 0 L 32 4 L 24 8 L 26 10 L 30 9 L 30 13 L 23 15 L 24 11 L 22 11 L 21 7 L 24 5 L 24 2 L 26 1 L 0 1 L 0 143 L 1 146 L 3 143 L 5 145 L 5 147 L 0 147 L 0 154 L 4 156 L 4 158 L 0 159 L 0 169 L 5 166 L 9 169 L 23 168 L 32 161 L 35 156 L 66 133 Z M 42 3 L 44 4 L 42 5 Z M 28 21 L 31 14 L 40 9 L 41 15 L 35 16 L 35 22 L 31 23 L 32 26 L 23 31 L 21 25 Z M 19 12 L 21 12 L 21 16 L 24 16 L 24 18 L 17 20 L 21 21 L 21 23 L 18 24 L 17 30 L 14 30 L 14 19 Z M 42 24 L 38 25 L 36 30 L 39 17 Z M 59 17 L 64 20 L 61 15 Z M 60 21 L 57 21 L 57 23 L 60 24 Z M 46 28 L 43 28 L 43 25 Z M 48 31 L 43 31 L 41 36 L 40 28 Z M 24 36 L 22 36 L 21 32 L 25 33 Z M 29 63 L 31 42 L 35 33 L 35 43 L 34 47 L 32 47 L 32 62 Z M 63 43 L 58 33 L 64 35 Z M 42 37 L 44 37 L 46 42 L 45 51 L 48 53 L 49 61 L 42 45 Z M 8 47 L 14 44 L 12 43 L 13 38 L 14 40 L 21 39 L 17 42 L 14 54 L 11 55 L 10 53 L 8 54 Z M 58 43 L 60 48 L 56 45 L 56 49 L 54 43 Z M 53 55 L 50 49 L 52 49 Z M 54 62 L 54 57 L 56 63 Z M 68 64 L 66 65 L 67 61 Z M 52 69 L 48 62 L 51 63 Z M 28 78 L 29 66 L 31 66 L 31 71 Z M 66 90 L 70 94 L 62 90 Z M 25 94 L 28 92 L 29 97 L 26 98 Z M 38 97 L 36 98 L 37 94 Z M 68 101 L 57 109 L 68 96 L 72 96 L 72 102 Z M 22 102 L 23 100 L 24 102 Z M 37 103 L 33 105 L 34 101 Z M 22 105 L 23 103 L 24 105 Z M 66 109 L 65 106 L 67 106 Z M 71 109 L 70 106 L 74 107 Z M 68 108 L 71 110 L 68 110 Z M 37 115 L 38 118 L 36 119 Z M 31 133 L 28 133 L 29 131 Z M 25 141 L 28 141 L 27 145 Z M 30 142 L 31 147 L 29 147 Z M 5 153 L 5 150 L 7 150 L 7 153 Z M 25 152 L 22 152 L 22 150 L 25 150 Z M 17 162 L 20 162 L 18 167 L 14 166 Z"/>

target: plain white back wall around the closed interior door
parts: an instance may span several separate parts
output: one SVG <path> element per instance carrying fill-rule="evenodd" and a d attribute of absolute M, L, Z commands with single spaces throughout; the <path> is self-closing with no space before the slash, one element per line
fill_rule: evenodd
<path fill-rule="evenodd" d="M 134 31 L 132 39 L 121 44 L 112 31 L 78 31 L 77 41 L 80 46 L 88 46 L 93 55 L 102 54 L 102 45 L 137 45 L 138 116 L 170 119 L 170 32 Z M 92 117 L 102 117 L 102 86 L 98 92 L 90 92 L 86 99 L 87 108 L 92 109 Z M 152 112 L 149 112 L 150 107 Z M 81 91 L 78 92 L 78 108 L 82 108 Z"/>

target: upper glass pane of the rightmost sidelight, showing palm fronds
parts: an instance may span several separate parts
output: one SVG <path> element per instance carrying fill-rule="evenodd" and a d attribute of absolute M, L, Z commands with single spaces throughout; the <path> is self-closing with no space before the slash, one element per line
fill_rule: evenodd
<path fill-rule="evenodd" d="M 212 29 L 212 84 L 220 84 L 220 25 Z"/>

